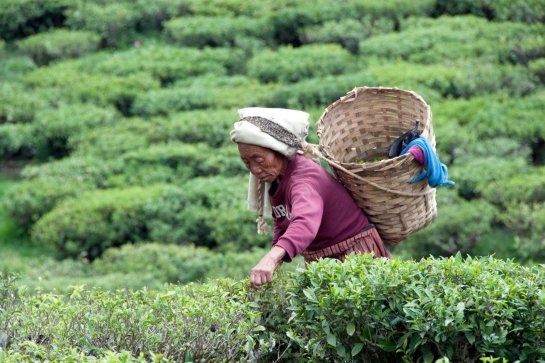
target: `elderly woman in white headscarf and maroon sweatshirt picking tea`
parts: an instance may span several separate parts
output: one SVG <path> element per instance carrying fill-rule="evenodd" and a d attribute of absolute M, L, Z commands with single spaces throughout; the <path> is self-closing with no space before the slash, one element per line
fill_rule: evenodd
<path fill-rule="evenodd" d="M 272 248 L 252 269 L 252 287 L 271 282 L 276 267 L 297 255 L 307 262 L 343 260 L 352 252 L 391 257 L 342 184 L 302 155 L 307 113 L 252 107 L 239 116 L 231 139 L 250 171 L 249 207 L 260 212 L 261 229 L 264 211 L 270 210 L 274 222 Z"/>

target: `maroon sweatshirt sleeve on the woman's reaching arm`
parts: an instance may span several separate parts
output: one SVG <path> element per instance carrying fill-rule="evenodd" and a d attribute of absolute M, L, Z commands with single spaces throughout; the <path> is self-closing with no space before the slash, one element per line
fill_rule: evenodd
<path fill-rule="evenodd" d="M 324 201 L 312 187 L 303 183 L 292 186 L 291 222 L 276 246 L 286 250 L 285 261 L 291 261 L 316 238 L 322 220 Z"/>

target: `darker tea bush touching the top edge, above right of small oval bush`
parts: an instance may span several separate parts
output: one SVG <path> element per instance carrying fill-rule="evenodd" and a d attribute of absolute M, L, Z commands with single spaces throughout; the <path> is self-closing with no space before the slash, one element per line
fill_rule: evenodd
<path fill-rule="evenodd" d="M 118 46 L 133 35 L 139 16 L 137 8 L 124 2 L 81 2 L 65 14 L 67 26 L 99 34 L 106 46 Z"/>

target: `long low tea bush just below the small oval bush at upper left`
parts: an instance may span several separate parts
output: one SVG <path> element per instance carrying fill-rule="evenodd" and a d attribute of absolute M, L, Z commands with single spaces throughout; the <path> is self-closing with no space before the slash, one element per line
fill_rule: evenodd
<path fill-rule="evenodd" d="M 55 88 L 68 102 L 93 102 L 98 106 L 115 105 L 127 114 L 134 98 L 158 89 L 159 81 L 147 73 L 126 77 L 81 72 L 69 64 L 42 67 L 27 73 L 23 83 L 30 87 Z"/>

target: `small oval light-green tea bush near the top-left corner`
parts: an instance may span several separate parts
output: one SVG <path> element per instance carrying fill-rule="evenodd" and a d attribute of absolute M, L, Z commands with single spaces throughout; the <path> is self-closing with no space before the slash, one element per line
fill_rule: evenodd
<path fill-rule="evenodd" d="M 17 42 L 38 65 L 64 58 L 77 58 L 98 49 L 100 36 L 84 30 L 53 29 Z"/>

